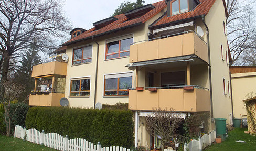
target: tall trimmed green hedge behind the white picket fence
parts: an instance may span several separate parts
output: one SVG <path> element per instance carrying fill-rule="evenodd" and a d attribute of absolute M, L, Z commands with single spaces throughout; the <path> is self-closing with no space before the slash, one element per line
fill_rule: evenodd
<path fill-rule="evenodd" d="M 132 147 L 133 119 L 129 110 L 93 110 L 67 107 L 33 107 L 26 118 L 27 128 L 55 132 L 69 138 L 84 138 L 104 147 Z"/>

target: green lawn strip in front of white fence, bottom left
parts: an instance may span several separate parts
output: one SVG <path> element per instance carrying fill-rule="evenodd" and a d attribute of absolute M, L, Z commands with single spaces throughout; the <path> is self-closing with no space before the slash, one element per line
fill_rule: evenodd
<path fill-rule="evenodd" d="M 0 150 L 55 150 L 31 142 L 23 142 L 23 139 L 0 135 Z"/>

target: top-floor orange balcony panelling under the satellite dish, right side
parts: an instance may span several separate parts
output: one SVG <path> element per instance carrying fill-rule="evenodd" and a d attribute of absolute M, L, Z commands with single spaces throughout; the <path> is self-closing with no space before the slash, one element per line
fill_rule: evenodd
<path fill-rule="evenodd" d="M 196 55 L 208 63 L 208 48 L 194 31 L 130 46 L 130 63 Z"/>

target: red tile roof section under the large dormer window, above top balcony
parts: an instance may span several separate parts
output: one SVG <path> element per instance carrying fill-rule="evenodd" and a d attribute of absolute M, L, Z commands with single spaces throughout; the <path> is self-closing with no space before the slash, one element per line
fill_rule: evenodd
<path fill-rule="evenodd" d="M 174 21 L 178 20 L 184 20 L 188 18 L 193 18 L 201 15 L 207 15 L 212 5 L 214 5 L 214 2 L 216 0 L 199 0 L 200 4 L 196 6 L 194 10 L 191 10 L 189 12 L 173 15 L 173 16 L 167 16 L 165 15 L 162 19 L 157 21 L 155 24 L 151 25 L 151 27 L 159 26 L 159 25 L 165 25 L 172 23 Z"/>

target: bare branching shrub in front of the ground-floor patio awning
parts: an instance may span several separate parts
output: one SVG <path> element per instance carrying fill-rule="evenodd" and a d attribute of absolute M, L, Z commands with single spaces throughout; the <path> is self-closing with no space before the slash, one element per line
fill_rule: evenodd
<path fill-rule="evenodd" d="M 157 134 L 161 137 L 161 148 L 163 151 L 165 144 L 176 137 L 182 118 L 174 113 L 173 109 L 169 111 L 166 109 L 156 109 L 153 111 L 153 115 L 146 118 L 147 130 L 151 132 L 152 136 Z"/>

